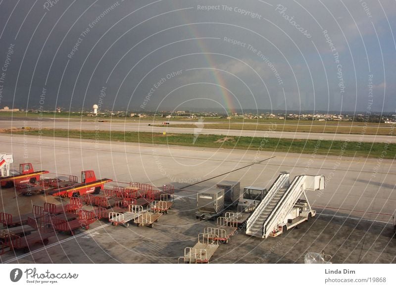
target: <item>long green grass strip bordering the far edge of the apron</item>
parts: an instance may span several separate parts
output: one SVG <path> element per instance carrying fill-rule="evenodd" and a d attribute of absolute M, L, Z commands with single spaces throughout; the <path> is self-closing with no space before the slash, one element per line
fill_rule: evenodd
<path fill-rule="evenodd" d="M 5 130 L 5 133 L 25 134 L 39 137 L 38 130 Z M 386 155 L 382 158 L 394 159 L 396 156 L 396 145 L 385 143 L 357 143 L 343 141 L 316 141 L 300 139 L 277 139 L 259 137 L 228 137 L 229 140 L 219 143 L 224 139 L 221 135 L 199 135 L 193 144 L 193 134 L 157 134 L 149 132 L 119 132 L 119 131 L 79 131 L 46 129 L 42 130 L 44 137 L 64 137 L 70 139 L 92 139 L 98 141 L 118 141 L 131 143 L 168 144 L 194 147 L 211 147 L 226 149 L 248 149 L 263 150 L 270 152 L 293 152 L 305 154 L 321 154 L 336 156 L 359 156 L 369 158 L 382 157 L 382 151 L 386 148 Z"/>

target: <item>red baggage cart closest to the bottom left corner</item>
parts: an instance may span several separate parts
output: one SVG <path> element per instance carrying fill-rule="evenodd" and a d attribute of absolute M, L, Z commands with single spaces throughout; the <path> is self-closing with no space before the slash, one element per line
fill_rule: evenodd
<path fill-rule="evenodd" d="M 23 249 L 23 251 L 27 253 L 30 251 L 30 247 L 36 243 L 43 243 L 44 245 L 47 245 L 49 242 L 49 238 L 55 235 L 55 231 L 52 229 L 51 226 L 40 225 L 38 224 L 36 219 L 29 217 L 28 225 L 35 228 L 36 231 L 23 237 L 13 236 L 10 238 L 6 238 L 1 244 L 0 254 L 3 254 L 8 250 L 16 249 Z"/>

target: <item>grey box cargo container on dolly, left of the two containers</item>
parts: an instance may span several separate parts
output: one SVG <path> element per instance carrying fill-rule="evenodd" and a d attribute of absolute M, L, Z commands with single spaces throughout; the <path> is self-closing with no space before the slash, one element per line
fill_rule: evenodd
<path fill-rule="evenodd" d="M 224 189 L 205 188 L 197 193 L 196 218 L 214 220 L 224 211 Z"/>

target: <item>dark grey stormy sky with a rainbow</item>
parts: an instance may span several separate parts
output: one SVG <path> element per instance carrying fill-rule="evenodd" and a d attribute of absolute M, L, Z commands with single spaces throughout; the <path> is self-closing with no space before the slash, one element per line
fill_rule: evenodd
<path fill-rule="evenodd" d="M 0 0 L 0 107 L 395 112 L 395 17 L 394 0 Z"/>

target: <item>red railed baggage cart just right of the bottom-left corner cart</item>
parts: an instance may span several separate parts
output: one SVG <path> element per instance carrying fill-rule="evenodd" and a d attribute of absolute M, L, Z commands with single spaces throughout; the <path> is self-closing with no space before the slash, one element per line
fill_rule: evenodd
<path fill-rule="evenodd" d="M 88 230 L 90 224 L 94 223 L 97 219 L 92 211 L 78 210 L 78 217 L 67 221 L 68 219 L 59 219 L 57 216 L 45 214 L 43 222 L 52 226 L 55 231 L 68 233 L 74 235 L 76 230 L 81 228 Z"/>

